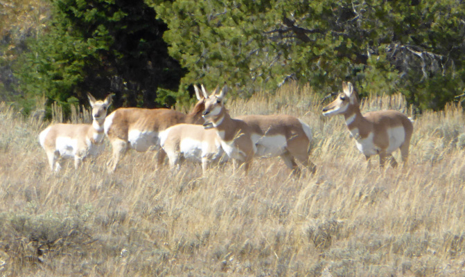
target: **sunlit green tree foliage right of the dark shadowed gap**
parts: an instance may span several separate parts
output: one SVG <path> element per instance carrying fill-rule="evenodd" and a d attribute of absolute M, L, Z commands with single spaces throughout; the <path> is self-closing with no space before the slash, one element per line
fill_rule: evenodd
<path fill-rule="evenodd" d="M 356 83 L 440 109 L 464 84 L 465 6 L 443 1 L 146 0 L 168 24 L 169 53 L 193 82 L 239 96 L 288 79 L 315 91 Z"/>

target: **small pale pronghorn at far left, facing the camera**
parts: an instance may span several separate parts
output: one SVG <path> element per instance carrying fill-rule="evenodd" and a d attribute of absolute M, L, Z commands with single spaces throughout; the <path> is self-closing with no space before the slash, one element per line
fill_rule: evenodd
<path fill-rule="evenodd" d="M 105 100 L 96 100 L 87 94 L 92 107 L 92 124 L 54 124 L 50 125 L 39 135 L 40 145 L 44 148 L 49 159 L 50 168 L 59 171 L 61 166 L 59 157 L 74 158 L 77 169 L 82 159 L 87 155 L 98 155 L 103 145 L 103 123 L 107 116 L 107 109 L 112 103 L 112 96 Z"/>

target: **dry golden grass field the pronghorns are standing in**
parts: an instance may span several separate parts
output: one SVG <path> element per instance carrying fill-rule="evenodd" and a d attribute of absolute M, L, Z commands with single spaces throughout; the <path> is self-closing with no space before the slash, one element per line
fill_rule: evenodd
<path fill-rule="evenodd" d="M 462 109 L 418 116 L 408 166 L 393 169 L 367 166 L 309 87 L 226 105 L 308 123 L 316 174 L 296 179 L 275 158 L 202 177 L 200 164 L 172 172 L 130 151 L 111 175 L 106 141 L 55 175 L 37 141 L 48 123 L 1 104 L 0 276 L 465 275 Z M 378 109 L 410 114 L 400 96 L 362 105 Z"/>

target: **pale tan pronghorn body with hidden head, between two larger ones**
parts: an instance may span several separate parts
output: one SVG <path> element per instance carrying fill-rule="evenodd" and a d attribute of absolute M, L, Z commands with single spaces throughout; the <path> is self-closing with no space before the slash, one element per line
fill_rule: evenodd
<path fill-rule="evenodd" d="M 209 164 L 227 161 L 221 140 L 214 129 L 202 125 L 178 124 L 159 135 L 161 148 L 168 155 L 170 166 L 178 166 L 183 159 L 201 161 L 205 173 Z"/>

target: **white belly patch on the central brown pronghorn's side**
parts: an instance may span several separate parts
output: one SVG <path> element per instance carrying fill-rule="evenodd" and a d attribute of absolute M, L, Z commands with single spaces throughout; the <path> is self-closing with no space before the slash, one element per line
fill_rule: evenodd
<path fill-rule="evenodd" d="M 252 134 L 252 142 L 256 145 L 255 157 L 276 157 L 285 152 L 288 143 L 286 136 L 281 134 L 275 136 L 260 136 Z"/>

